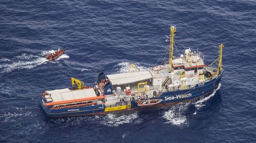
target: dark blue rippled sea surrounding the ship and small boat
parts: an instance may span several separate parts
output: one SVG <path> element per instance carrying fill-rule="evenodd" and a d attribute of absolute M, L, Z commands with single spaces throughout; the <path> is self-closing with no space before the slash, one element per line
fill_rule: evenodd
<path fill-rule="evenodd" d="M 40 93 L 71 88 L 71 77 L 91 86 L 101 71 L 155 66 L 170 25 L 177 26 L 179 51 L 198 49 L 206 64 L 225 45 L 217 92 L 176 106 L 90 117 L 51 119 L 40 108 Z M 65 54 L 48 62 L 44 56 L 58 47 Z M 253 0 L 2 0 L 0 142 L 256 142 L 255 55 Z"/>

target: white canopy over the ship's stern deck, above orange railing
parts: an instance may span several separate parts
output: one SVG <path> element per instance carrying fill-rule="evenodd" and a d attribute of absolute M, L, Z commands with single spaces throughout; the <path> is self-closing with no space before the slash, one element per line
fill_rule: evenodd
<path fill-rule="evenodd" d="M 67 100 L 74 100 L 74 99 L 81 99 L 81 98 L 97 96 L 92 88 L 91 89 L 83 89 L 83 90 L 75 90 L 75 91 L 71 91 L 67 88 L 67 89 L 61 89 L 61 90 L 47 91 L 47 93 L 50 94 L 53 102 L 67 101 Z"/>

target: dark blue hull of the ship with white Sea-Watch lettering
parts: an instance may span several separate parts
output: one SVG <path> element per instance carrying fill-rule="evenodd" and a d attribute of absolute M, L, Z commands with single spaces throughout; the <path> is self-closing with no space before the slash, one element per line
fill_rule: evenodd
<path fill-rule="evenodd" d="M 224 71 L 221 71 L 218 77 L 211 79 L 208 82 L 197 84 L 194 88 L 188 90 L 178 90 L 172 92 L 163 92 L 157 98 L 151 99 L 162 99 L 159 104 L 152 106 L 166 106 L 166 105 L 175 105 L 182 102 L 189 102 L 196 100 L 200 97 L 209 96 L 217 88 L 221 81 L 221 77 Z M 100 115 L 111 112 L 125 112 L 128 110 L 136 110 L 141 108 L 147 108 L 148 106 L 141 107 L 137 106 L 136 101 L 131 101 L 131 105 L 127 105 L 126 108 L 115 109 L 112 111 L 106 111 L 104 104 L 95 105 L 95 106 L 85 106 L 85 107 L 72 107 L 72 108 L 61 108 L 61 109 L 50 109 L 45 105 L 42 97 L 39 97 L 40 104 L 42 109 L 46 112 L 48 117 L 71 117 L 71 116 L 87 116 L 87 115 Z M 152 107 L 151 106 L 151 107 Z"/>

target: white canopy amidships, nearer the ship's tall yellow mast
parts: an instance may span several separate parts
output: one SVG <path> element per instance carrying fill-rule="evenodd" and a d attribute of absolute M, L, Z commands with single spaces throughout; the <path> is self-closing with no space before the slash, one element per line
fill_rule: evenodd
<path fill-rule="evenodd" d="M 132 72 L 132 73 L 119 73 L 106 75 L 113 85 L 133 83 L 140 80 L 150 79 L 152 75 L 149 71 Z"/>

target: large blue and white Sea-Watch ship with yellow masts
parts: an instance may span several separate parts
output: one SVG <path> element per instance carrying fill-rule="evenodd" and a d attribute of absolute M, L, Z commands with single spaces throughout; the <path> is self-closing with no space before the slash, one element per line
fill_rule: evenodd
<path fill-rule="evenodd" d="M 204 55 L 198 49 L 193 52 L 188 48 L 183 54 L 174 56 L 175 32 L 176 26 L 170 26 L 169 57 L 163 64 L 146 71 L 138 71 L 131 64 L 127 73 L 101 72 L 93 87 L 72 77 L 71 89 L 48 90 L 39 96 L 42 109 L 50 118 L 92 116 L 172 106 L 211 95 L 224 73 L 224 45 L 219 45 L 218 58 L 206 66 Z"/>

